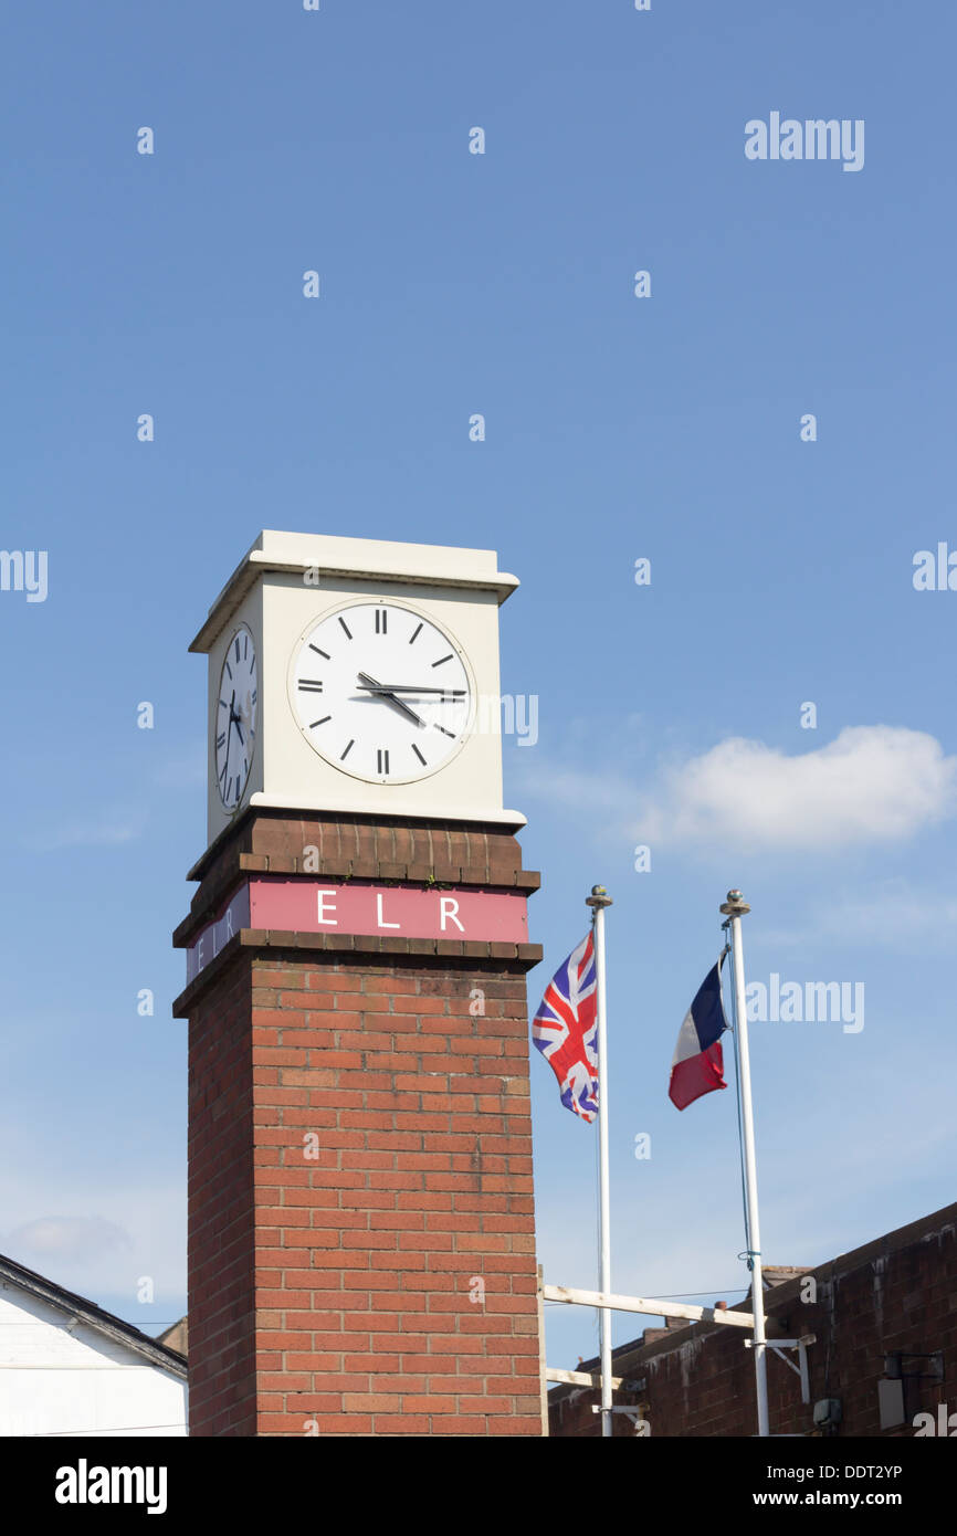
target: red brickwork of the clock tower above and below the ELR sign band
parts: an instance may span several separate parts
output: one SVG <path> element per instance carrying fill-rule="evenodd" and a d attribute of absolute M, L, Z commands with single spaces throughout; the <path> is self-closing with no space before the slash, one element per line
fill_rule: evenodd
<path fill-rule="evenodd" d="M 307 872 L 306 848 L 323 876 L 538 885 L 499 829 L 257 813 L 194 871 L 175 942 L 249 871 Z M 539 954 L 244 932 L 177 1000 L 192 1435 L 541 1435 Z"/>

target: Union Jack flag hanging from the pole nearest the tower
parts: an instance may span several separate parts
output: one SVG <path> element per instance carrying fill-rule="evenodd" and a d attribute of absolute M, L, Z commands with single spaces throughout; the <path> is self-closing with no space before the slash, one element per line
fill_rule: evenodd
<path fill-rule="evenodd" d="M 551 1063 L 565 1109 L 591 1123 L 598 1114 L 598 997 L 590 932 L 548 982 L 531 1038 Z"/>

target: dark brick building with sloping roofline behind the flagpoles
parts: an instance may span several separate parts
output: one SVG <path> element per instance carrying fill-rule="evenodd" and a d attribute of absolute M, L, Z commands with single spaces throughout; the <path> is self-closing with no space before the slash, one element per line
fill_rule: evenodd
<path fill-rule="evenodd" d="M 951 1412 L 957 1412 L 957 1206 L 806 1273 L 817 1283 L 813 1303 L 800 1299 L 800 1281 L 767 1292 L 770 1333 L 816 1336 L 808 1347 L 810 1404 L 802 1402 L 794 1372 L 768 1355 L 773 1435 L 813 1433 L 813 1405 L 820 1398 L 840 1399 L 842 1436 L 914 1435 L 916 1413 L 934 1413 L 937 1404 L 948 1401 Z M 653 1436 L 753 1435 L 754 1362 L 742 1332 L 700 1324 L 668 1330 L 667 1336 L 648 1330 L 648 1342 L 636 1341 L 614 1352 L 616 1375 L 645 1382 L 641 1390 L 616 1395 L 616 1402 L 645 1402 Z M 885 1376 L 885 1356 L 935 1350 L 945 1356 L 943 1382 L 906 1381 L 906 1422 L 882 1430 L 877 1382 Z M 905 1361 L 905 1370 L 922 1369 L 928 1370 L 928 1362 Z M 594 1392 L 553 1392 L 551 1435 L 601 1433 L 593 1402 L 598 1402 Z M 633 1433 L 618 1415 L 614 1432 Z"/>

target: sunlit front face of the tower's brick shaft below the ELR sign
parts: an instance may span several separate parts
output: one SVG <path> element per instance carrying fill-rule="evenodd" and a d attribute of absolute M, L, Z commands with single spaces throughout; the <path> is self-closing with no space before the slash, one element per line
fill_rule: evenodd
<path fill-rule="evenodd" d="M 258 1433 L 539 1435 L 524 974 L 252 980 Z"/>

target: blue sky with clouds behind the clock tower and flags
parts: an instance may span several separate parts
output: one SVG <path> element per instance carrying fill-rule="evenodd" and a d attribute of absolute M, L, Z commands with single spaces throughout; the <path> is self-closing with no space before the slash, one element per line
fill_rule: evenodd
<path fill-rule="evenodd" d="M 493 547 L 522 581 L 502 688 L 539 699 L 538 745 L 505 748 L 542 871 L 531 1008 L 590 886 L 614 897 L 618 1290 L 745 1284 L 733 1095 L 665 1097 L 731 885 L 751 978 L 866 988 L 859 1034 L 753 1025 L 765 1256 L 822 1261 L 952 1200 L 957 596 L 917 593 L 912 559 L 957 545 L 957 23 L 902 18 L 8 15 L 2 542 L 48 551 L 49 591 L 0 593 L 0 1250 L 141 1327 L 184 1310 L 186 647 L 263 527 Z M 748 161 L 773 111 L 863 120 L 863 169 Z M 541 1258 L 591 1286 L 594 1129 L 531 1069 Z M 550 1364 L 594 1347 L 591 1313 L 550 1309 Z"/>

